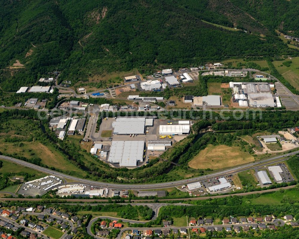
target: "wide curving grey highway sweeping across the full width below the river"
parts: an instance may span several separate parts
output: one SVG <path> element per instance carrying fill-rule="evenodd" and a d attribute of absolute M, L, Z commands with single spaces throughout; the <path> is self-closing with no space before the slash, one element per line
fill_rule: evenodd
<path fill-rule="evenodd" d="M 276 163 L 276 162 L 281 162 L 286 160 L 287 157 L 295 155 L 299 153 L 299 150 L 291 152 L 291 153 L 286 153 L 280 156 L 275 156 L 275 157 L 271 157 L 269 159 L 263 159 L 257 162 L 253 162 L 247 165 L 241 165 L 235 168 L 231 168 L 231 169 L 227 169 L 224 171 L 219 171 L 216 173 L 211 173 L 205 176 L 199 176 L 199 177 L 194 177 L 191 179 L 182 179 L 182 180 L 178 180 L 178 181 L 173 181 L 173 182 L 163 182 L 163 183 L 154 183 L 154 184 L 117 184 L 117 183 L 108 183 L 108 182 L 97 182 L 97 181 L 93 181 L 93 180 L 88 180 L 88 179 L 81 179 L 81 178 L 77 178 L 75 176 L 70 176 L 70 175 L 66 175 L 64 173 L 60 173 L 60 172 L 56 172 L 53 170 L 50 170 L 48 168 L 43 168 L 41 166 L 38 165 L 34 165 L 19 159 L 15 159 L 15 158 L 11 158 L 8 156 L 3 156 L 0 155 L 0 158 L 2 159 L 6 159 L 10 162 L 14 162 L 17 164 L 20 164 L 22 166 L 28 167 L 28 168 L 32 168 L 35 169 L 37 171 L 41 171 L 44 173 L 48 173 L 48 174 L 53 174 L 56 175 L 58 177 L 63 177 L 65 179 L 71 179 L 77 182 L 80 182 L 82 184 L 87 184 L 87 185 L 93 185 L 93 186 L 97 186 L 97 187 L 101 187 L 101 188 L 110 188 L 110 189 L 134 189 L 134 190 L 149 190 L 149 189 L 162 189 L 162 188 L 172 188 L 175 186 L 181 186 L 181 185 L 185 185 L 191 182 L 199 182 L 205 179 L 213 179 L 215 177 L 220 177 L 220 176 L 225 176 L 228 174 L 233 174 L 233 173 L 238 173 L 241 171 L 245 171 L 247 169 L 250 168 L 255 168 L 257 166 L 264 166 L 267 165 L 269 163 Z"/>

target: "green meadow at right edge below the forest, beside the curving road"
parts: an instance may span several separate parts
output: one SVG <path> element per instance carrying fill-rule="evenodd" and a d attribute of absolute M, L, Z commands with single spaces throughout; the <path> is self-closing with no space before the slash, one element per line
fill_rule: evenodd
<path fill-rule="evenodd" d="M 286 61 L 292 61 L 289 67 L 283 65 Z M 273 65 L 292 86 L 299 89 L 299 57 L 292 57 L 292 59 L 282 61 L 273 61 Z"/>

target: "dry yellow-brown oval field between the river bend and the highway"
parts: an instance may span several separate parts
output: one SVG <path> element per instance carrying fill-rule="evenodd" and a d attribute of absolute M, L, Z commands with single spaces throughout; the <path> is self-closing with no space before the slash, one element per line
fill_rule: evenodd
<path fill-rule="evenodd" d="M 191 168 L 222 169 L 253 162 L 254 157 L 240 150 L 238 146 L 209 144 L 189 163 Z"/>

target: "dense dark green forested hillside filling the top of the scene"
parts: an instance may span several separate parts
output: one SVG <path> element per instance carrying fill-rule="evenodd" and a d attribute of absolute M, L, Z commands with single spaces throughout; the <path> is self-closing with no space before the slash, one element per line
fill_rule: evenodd
<path fill-rule="evenodd" d="M 299 33 L 298 2 L 0 0 L 0 86 L 13 92 L 53 70 L 62 71 L 61 80 L 75 83 L 132 68 L 149 74 L 161 65 L 178 68 L 230 57 L 297 55 L 274 29 Z M 24 68 L 7 68 L 16 60 Z"/>

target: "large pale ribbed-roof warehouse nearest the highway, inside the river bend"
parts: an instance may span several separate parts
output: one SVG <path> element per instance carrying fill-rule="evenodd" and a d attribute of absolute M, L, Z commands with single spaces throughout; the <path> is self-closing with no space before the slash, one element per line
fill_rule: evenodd
<path fill-rule="evenodd" d="M 143 162 L 144 141 L 112 141 L 108 161 L 121 167 L 136 167 Z"/>

